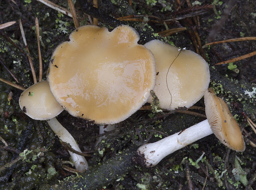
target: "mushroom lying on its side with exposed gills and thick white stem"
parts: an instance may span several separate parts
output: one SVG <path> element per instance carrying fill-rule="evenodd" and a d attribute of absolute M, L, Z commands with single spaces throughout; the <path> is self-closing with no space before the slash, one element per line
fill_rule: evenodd
<path fill-rule="evenodd" d="M 232 150 L 245 150 L 242 133 L 227 104 L 210 88 L 204 92 L 204 102 L 207 120 L 155 143 L 139 147 L 137 154 L 143 157 L 146 166 L 155 166 L 167 155 L 212 133 Z"/>

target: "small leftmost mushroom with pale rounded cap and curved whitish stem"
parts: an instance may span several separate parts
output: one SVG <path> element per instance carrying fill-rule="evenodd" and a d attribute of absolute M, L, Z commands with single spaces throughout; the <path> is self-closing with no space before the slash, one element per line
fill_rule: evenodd
<path fill-rule="evenodd" d="M 47 120 L 53 132 L 63 142 L 69 143 L 72 149 L 81 152 L 73 136 L 65 129 L 55 118 L 63 108 L 56 102 L 52 96 L 47 81 L 33 84 L 23 91 L 19 99 L 20 109 L 34 120 Z M 77 155 L 69 151 L 71 160 L 75 163 L 76 170 L 83 172 L 88 169 L 84 156 Z"/>

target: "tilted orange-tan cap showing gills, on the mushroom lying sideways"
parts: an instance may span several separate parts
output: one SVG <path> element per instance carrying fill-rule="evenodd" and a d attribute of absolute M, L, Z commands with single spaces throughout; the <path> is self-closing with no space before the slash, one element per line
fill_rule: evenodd
<path fill-rule="evenodd" d="M 204 93 L 205 114 L 212 132 L 221 143 L 236 151 L 244 151 L 241 130 L 227 104 L 208 88 Z"/>

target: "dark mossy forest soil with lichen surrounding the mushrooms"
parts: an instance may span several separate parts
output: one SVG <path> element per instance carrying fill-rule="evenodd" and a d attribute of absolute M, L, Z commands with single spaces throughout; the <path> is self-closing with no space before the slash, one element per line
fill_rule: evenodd
<path fill-rule="evenodd" d="M 69 9 L 67 1 L 53 2 Z M 85 2 L 80 0 L 75 4 L 80 25 L 90 23 L 87 13 L 99 18 L 99 26 L 106 26 L 109 30 L 120 23 L 133 26 L 141 35 L 140 44 L 159 38 L 202 55 L 210 64 L 209 86 L 228 103 L 239 125 L 245 128 L 243 135 L 252 131 L 242 113 L 256 121 L 256 95 L 252 98 L 245 95 L 246 90 L 251 92 L 252 87 L 256 87 L 256 56 L 234 62 L 233 65 L 215 63 L 255 51 L 256 42 L 248 40 L 212 46 L 205 44 L 256 36 L 254 0 L 135 0 L 131 1 L 132 5 L 127 0 L 99 0 L 100 12 L 91 8 L 91 1 L 87 7 L 80 6 L 79 2 L 82 5 Z M 181 3 L 180 7 L 177 2 Z M 190 7 L 189 2 L 193 7 Z M 142 16 L 134 17 L 141 19 L 136 21 L 113 19 L 128 15 Z M 1 31 L 27 52 L 20 33 L 21 19 L 38 77 L 36 17 L 42 37 L 43 79 L 46 80 L 52 51 L 60 42 L 68 40 L 68 34 L 75 29 L 73 19 L 35 0 L 0 0 L 0 24 L 16 21 Z M 152 34 L 179 27 L 187 27 L 188 30 L 166 38 Z M 2 34 L 0 59 L 18 79 L 19 85 L 27 88 L 33 84 L 28 57 L 12 46 Z M 0 77 L 17 83 L 3 64 L 0 65 Z M 9 92 L 13 94 L 10 106 L 7 105 Z M 155 167 L 140 165 L 141 160 L 135 157 L 135 151 L 140 145 L 158 141 L 160 136 L 163 138 L 204 120 L 203 117 L 182 113 L 166 113 L 164 116 L 155 114 L 152 117 L 151 110 L 140 110 L 117 124 L 116 136 L 109 136 L 97 147 L 94 147 L 94 141 L 98 137 L 99 126 L 74 118 L 65 111 L 61 113 L 58 121 L 74 136 L 81 150 L 92 154 L 92 157 L 86 157 L 90 169 L 74 175 L 63 169 L 61 161 L 69 160 L 68 151 L 47 123 L 34 121 L 20 110 L 18 100 L 21 92 L 0 82 L 0 136 L 8 143 L 7 148 L 0 141 L 0 189 L 256 189 L 256 150 L 249 144 L 256 144 L 253 131 L 245 138 L 244 152 L 229 150 L 214 135 L 210 135 L 165 157 Z M 204 107 L 203 102 L 201 99 L 196 106 Z M 201 110 L 195 112 L 204 114 Z M 26 149 L 33 151 L 25 154 Z M 23 152 L 26 156 L 20 159 L 20 153 Z M 203 153 L 203 159 L 196 163 Z M 72 168 L 69 164 L 67 166 Z M 232 173 L 234 168 L 239 168 L 238 175 Z"/>

